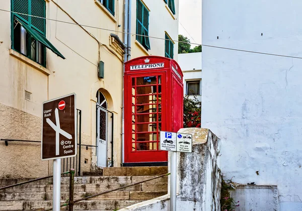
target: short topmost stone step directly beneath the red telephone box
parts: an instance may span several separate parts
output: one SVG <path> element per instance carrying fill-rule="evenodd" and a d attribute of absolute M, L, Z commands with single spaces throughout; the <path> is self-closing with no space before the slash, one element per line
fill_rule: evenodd
<path fill-rule="evenodd" d="M 168 166 L 106 167 L 103 176 L 155 176 L 168 173 Z"/>

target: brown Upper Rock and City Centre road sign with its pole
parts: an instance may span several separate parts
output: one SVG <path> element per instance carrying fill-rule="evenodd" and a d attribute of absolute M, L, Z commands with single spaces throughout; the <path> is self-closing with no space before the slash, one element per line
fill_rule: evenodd
<path fill-rule="evenodd" d="M 77 155 L 75 93 L 43 102 L 42 160 L 53 160 L 53 211 L 60 210 L 61 158 Z"/>

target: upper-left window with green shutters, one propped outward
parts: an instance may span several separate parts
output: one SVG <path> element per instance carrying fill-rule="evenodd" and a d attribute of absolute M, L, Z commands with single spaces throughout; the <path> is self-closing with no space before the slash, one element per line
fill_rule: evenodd
<path fill-rule="evenodd" d="M 46 66 L 46 47 L 58 56 L 60 52 L 45 38 L 45 0 L 12 0 L 12 49 Z M 38 18 L 42 17 L 42 18 Z"/>

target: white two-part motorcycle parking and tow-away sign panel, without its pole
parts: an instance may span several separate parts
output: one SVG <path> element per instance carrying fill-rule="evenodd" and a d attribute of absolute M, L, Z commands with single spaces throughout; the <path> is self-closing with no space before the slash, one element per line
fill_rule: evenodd
<path fill-rule="evenodd" d="M 192 135 L 161 131 L 160 149 L 173 152 L 192 152 Z"/>

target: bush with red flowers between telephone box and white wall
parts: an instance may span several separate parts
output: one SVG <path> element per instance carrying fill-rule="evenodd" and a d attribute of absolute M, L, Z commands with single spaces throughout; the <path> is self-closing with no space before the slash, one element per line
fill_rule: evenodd
<path fill-rule="evenodd" d="M 194 94 L 193 99 L 188 95 L 184 97 L 184 128 L 200 128 L 201 102 Z"/>

